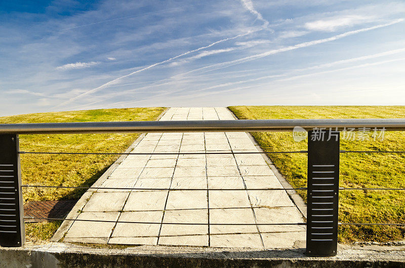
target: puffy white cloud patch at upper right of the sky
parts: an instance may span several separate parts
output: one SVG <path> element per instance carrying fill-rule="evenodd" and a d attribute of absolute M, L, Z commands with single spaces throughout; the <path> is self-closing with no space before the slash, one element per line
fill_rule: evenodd
<path fill-rule="evenodd" d="M 333 32 L 339 28 L 351 27 L 359 23 L 370 21 L 371 19 L 372 17 L 370 16 L 358 16 L 358 15 L 332 17 L 327 20 L 317 20 L 307 22 L 305 23 L 304 28 L 311 31 Z"/>

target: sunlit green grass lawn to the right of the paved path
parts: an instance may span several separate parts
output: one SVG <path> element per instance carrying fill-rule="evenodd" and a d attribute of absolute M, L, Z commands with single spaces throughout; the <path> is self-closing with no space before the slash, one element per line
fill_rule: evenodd
<path fill-rule="evenodd" d="M 239 119 L 405 118 L 405 106 L 231 106 Z M 294 142 L 291 132 L 252 133 L 264 150 L 306 150 L 307 140 Z M 341 139 L 341 150 L 405 150 L 405 132 L 387 131 L 384 140 Z M 306 187 L 307 155 L 269 154 L 293 187 Z M 405 154 L 342 153 L 340 187 L 405 188 Z M 299 191 L 306 200 L 306 191 Z M 346 190 L 339 193 L 343 223 L 405 223 L 405 192 Z M 340 242 L 402 240 L 403 227 L 341 226 Z"/>

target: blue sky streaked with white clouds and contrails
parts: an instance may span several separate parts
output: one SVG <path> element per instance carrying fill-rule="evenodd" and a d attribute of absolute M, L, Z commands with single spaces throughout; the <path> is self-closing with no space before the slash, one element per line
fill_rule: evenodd
<path fill-rule="evenodd" d="M 405 3 L 2 1 L 0 115 L 400 105 Z"/>

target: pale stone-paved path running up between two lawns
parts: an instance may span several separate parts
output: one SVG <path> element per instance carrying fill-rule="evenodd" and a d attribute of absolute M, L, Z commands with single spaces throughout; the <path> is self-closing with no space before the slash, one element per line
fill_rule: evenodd
<path fill-rule="evenodd" d="M 160 120 L 218 119 L 234 118 L 225 108 L 171 108 Z M 77 219 L 112 222 L 76 221 L 65 241 L 263 249 L 305 240 L 303 226 L 260 225 L 303 222 L 285 191 L 249 190 L 282 187 L 260 154 L 181 154 L 231 150 L 257 151 L 246 133 L 148 133 L 133 152 L 176 154 L 129 155 L 101 187 L 170 190 L 89 191 Z"/>

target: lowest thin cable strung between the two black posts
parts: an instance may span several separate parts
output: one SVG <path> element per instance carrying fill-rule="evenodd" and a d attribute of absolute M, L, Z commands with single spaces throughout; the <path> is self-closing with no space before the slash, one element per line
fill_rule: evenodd
<path fill-rule="evenodd" d="M 127 221 L 104 221 L 104 220 L 83 220 L 83 219 L 62 219 L 62 218 L 44 218 L 44 217 L 24 217 L 27 220 L 43 219 L 52 221 L 79 221 L 79 222 L 99 222 L 99 223 L 132 223 L 132 224 L 173 224 L 173 225 L 208 225 L 208 223 L 157 223 L 157 222 L 127 222 Z M 263 223 L 263 224 L 235 224 L 235 223 L 210 223 L 209 225 L 307 225 L 306 223 Z"/>

